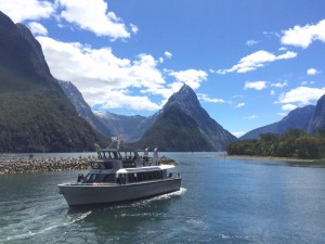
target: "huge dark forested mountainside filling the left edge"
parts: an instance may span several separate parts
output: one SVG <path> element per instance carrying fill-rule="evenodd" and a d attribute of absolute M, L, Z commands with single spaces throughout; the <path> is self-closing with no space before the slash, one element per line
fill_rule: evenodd
<path fill-rule="evenodd" d="M 104 141 L 78 116 L 30 30 L 0 12 L 0 152 L 94 151 Z"/>

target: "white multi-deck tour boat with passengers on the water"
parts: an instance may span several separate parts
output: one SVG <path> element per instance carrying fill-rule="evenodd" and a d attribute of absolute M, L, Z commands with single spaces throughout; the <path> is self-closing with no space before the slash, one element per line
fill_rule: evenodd
<path fill-rule="evenodd" d="M 67 204 L 73 206 L 112 204 L 134 201 L 179 191 L 182 178 L 172 174 L 173 165 L 162 165 L 157 149 L 150 157 L 134 150 L 116 147 L 98 151 L 98 159 L 91 162 L 86 177 L 80 174 L 75 182 L 58 184 Z"/>

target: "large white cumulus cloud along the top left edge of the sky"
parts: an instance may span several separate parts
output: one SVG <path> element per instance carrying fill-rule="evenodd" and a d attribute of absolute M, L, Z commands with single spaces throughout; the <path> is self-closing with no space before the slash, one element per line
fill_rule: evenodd
<path fill-rule="evenodd" d="M 60 26 L 64 26 L 62 22 L 65 21 L 96 36 L 110 37 L 112 40 L 131 36 L 122 20 L 108 11 L 104 0 L 55 0 L 54 3 L 40 0 L 1 0 L 0 10 L 14 22 L 54 17 Z M 133 24 L 130 24 L 130 29 L 133 34 L 139 30 Z"/>

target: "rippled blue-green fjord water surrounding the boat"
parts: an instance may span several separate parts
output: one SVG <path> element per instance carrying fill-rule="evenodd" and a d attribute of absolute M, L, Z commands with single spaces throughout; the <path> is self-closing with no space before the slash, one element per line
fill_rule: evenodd
<path fill-rule="evenodd" d="M 0 243 L 325 243 L 325 167 L 165 155 L 181 191 L 115 206 L 68 208 L 78 171 L 0 176 Z"/>

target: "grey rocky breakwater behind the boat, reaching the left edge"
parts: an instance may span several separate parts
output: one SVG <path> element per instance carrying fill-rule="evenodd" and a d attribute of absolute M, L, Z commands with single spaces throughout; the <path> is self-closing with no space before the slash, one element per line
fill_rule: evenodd
<path fill-rule="evenodd" d="M 48 157 L 48 158 L 24 158 L 0 157 L 1 174 L 28 174 L 28 172 L 47 172 L 47 171 L 66 171 L 66 170 L 86 170 L 90 169 L 90 162 L 96 159 L 95 156 L 88 157 Z M 177 164 L 168 157 L 160 157 L 160 164 Z"/>

